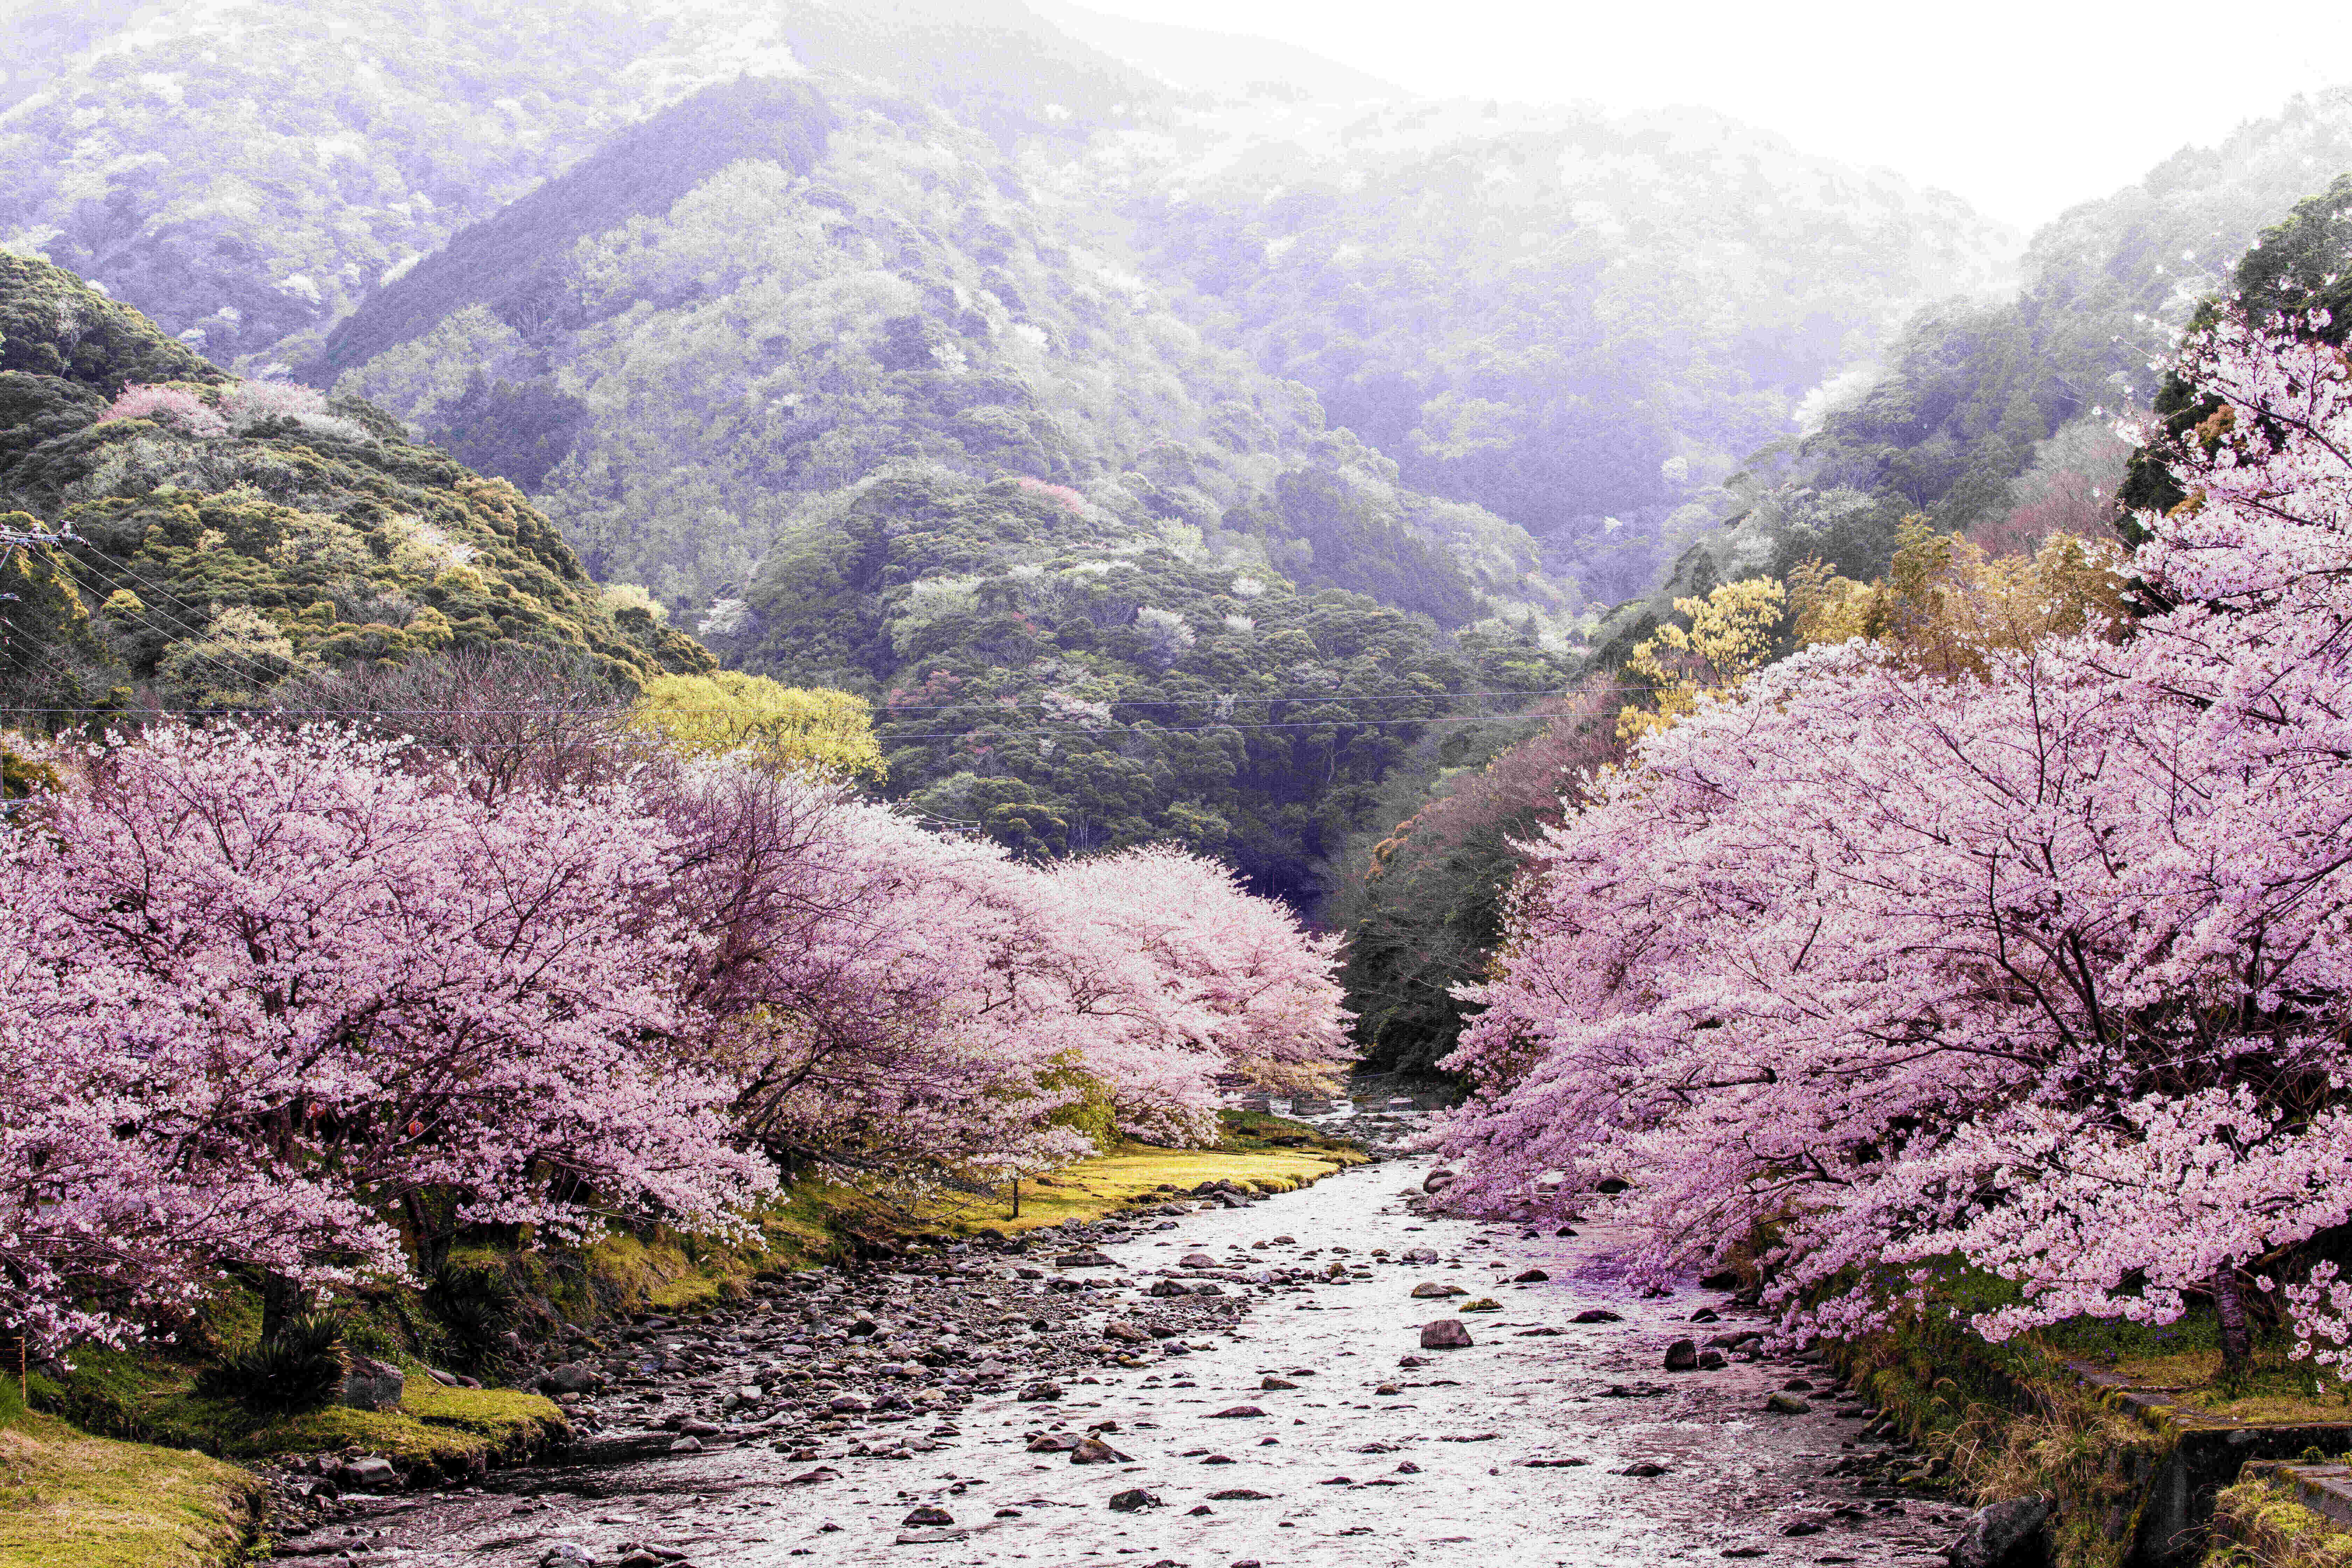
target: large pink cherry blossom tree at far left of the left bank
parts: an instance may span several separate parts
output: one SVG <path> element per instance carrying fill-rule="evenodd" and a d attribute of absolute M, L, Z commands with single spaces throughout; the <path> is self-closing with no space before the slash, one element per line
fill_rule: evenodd
<path fill-rule="evenodd" d="M 0 1276 L 52 1302 L 21 1316 L 73 1326 L 61 1281 L 136 1305 L 252 1265 L 275 1321 L 463 1225 L 724 1229 L 771 1185 L 670 1044 L 687 933 L 626 790 L 485 806 L 327 729 L 64 762 L 0 858 Z"/>

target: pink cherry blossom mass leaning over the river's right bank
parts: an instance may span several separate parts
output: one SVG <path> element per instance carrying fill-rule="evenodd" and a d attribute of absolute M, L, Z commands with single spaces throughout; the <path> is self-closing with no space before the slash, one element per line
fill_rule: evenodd
<path fill-rule="evenodd" d="M 2183 369 L 2220 411 L 2129 642 L 1816 646 L 1590 780 L 1475 987 L 1449 1199 L 1618 1175 L 1651 1269 L 1755 1246 L 1790 1331 L 1959 1258 L 2018 1286 L 1990 1335 L 2204 1293 L 2241 1354 L 2244 1272 L 2352 1220 L 2352 393 L 2244 320 Z"/>

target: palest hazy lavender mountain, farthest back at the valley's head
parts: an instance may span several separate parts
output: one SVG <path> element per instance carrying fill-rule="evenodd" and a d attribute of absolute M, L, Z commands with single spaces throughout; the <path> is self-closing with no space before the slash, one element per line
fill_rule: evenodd
<path fill-rule="evenodd" d="M 1070 167 L 1190 320 L 1512 520 L 1555 578 L 1642 592 L 1693 501 L 1799 430 L 1929 299 L 2006 280 L 1957 197 L 1705 110 L 1254 101 Z"/>

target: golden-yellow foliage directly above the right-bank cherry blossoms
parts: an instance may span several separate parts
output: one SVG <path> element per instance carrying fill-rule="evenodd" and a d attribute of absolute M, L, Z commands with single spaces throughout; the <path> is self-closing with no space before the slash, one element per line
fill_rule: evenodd
<path fill-rule="evenodd" d="M 2114 630 L 2124 621 L 2124 550 L 2107 538 L 2053 534 L 2034 555 L 1985 555 L 1924 517 L 1896 536 L 1877 583 L 1856 583 L 1820 559 L 1790 574 L 1797 644 L 1865 637 L 1919 670 L 1980 672 L 1985 654 L 2042 637 Z"/>

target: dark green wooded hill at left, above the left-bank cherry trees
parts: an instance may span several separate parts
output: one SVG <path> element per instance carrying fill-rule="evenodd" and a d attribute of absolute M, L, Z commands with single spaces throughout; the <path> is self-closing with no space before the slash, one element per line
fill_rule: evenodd
<path fill-rule="evenodd" d="M 529 644 L 619 686 L 713 668 L 510 484 L 362 402 L 207 364 L 0 256 L 0 705 L 249 703 L 306 670 Z"/>

